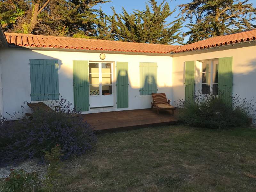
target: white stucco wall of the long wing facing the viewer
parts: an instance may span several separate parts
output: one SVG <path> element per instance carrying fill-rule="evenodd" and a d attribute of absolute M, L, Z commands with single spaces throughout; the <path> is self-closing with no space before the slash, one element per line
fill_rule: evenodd
<path fill-rule="evenodd" d="M 29 59 L 58 59 L 59 92 L 68 101 L 74 102 L 72 69 L 73 60 L 100 61 L 99 55 L 100 53 L 43 51 L 17 48 L 1 50 L 4 114 L 5 112 L 13 113 L 14 111 L 20 111 L 20 106 L 24 105 L 24 102 L 31 101 L 30 68 L 28 65 Z M 150 108 L 150 103 L 152 100 L 151 95 L 140 96 L 139 93 L 140 62 L 157 63 L 158 92 L 165 92 L 167 98 L 172 99 L 172 57 L 109 53 L 105 53 L 105 55 L 106 59 L 104 61 L 128 62 L 130 83 L 129 108 L 117 109 L 116 106 L 114 106 L 113 108 L 91 109 L 90 111 L 86 111 L 84 113 Z M 116 92 L 115 78 L 116 75 L 114 75 L 113 81 L 114 93 Z M 114 101 L 114 103 L 116 103 L 116 101 Z M 24 106 L 27 107 L 26 105 Z"/>

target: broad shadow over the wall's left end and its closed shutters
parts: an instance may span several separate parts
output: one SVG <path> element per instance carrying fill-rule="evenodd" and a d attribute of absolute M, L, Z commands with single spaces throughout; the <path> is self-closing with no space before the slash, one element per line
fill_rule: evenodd
<path fill-rule="evenodd" d="M 31 113 L 31 109 L 26 105 L 27 102 L 35 103 L 41 100 L 51 105 L 52 100 L 48 99 L 60 97 L 59 81 L 62 80 L 58 76 L 62 66 L 60 59 L 23 48 L 4 49 L 3 55 L 1 56 L 3 117 L 10 119 L 15 113 L 18 116 L 22 113 Z M 58 65 L 54 64 L 54 60 Z M 31 84 L 31 79 L 37 82 Z M 55 82 L 54 86 L 50 83 L 52 81 Z"/>

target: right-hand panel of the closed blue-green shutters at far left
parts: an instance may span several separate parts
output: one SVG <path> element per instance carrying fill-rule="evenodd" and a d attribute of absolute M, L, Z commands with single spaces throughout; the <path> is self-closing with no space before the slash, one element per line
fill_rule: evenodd
<path fill-rule="evenodd" d="M 44 60 L 45 100 L 59 99 L 58 60 Z"/>

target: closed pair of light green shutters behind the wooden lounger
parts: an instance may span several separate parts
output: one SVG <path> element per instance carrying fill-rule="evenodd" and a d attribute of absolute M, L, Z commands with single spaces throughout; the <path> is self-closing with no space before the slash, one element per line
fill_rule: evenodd
<path fill-rule="evenodd" d="M 140 95 L 157 93 L 157 63 L 140 62 Z"/>

